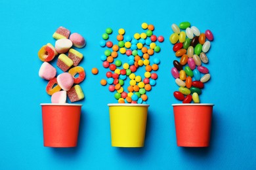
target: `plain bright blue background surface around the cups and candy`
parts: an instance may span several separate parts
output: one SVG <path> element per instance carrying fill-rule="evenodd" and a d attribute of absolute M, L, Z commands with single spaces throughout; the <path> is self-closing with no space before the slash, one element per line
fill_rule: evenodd
<path fill-rule="evenodd" d="M 255 156 L 255 1 L 0 1 L 0 169 L 253 169 Z M 211 146 L 182 148 L 176 144 L 171 76 L 175 59 L 171 24 L 189 21 L 215 39 L 207 53 L 211 80 L 201 101 L 214 103 Z M 100 85 L 99 46 L 106 27 L 123 27 L 127 35 L 155 25 L 163 35 L 157 85 L 148 93 L 149 114 L 144 148 L 111 146 L 108 103 L 114 93 Z M 54 44 L 59 26 L 80 33 L 87 46 L 81 66 L 87 77 L 78 146 L 43 146 L 41 107 L 51 98 L 38 76 L 37 52 Z M 98 75 L 91 69 L 97 67 Z M 58 70 L 58 73 L 59 70 Z M 254 106 L 253 106 L 254 105 Z"/>

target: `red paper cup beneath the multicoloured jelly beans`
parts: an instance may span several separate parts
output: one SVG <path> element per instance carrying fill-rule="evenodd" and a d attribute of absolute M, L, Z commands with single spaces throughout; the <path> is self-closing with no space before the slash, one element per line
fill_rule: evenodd
<path fill-rule="evenodd" d="M 173 112 L 177 146 L 209 146 L 213 104 L 174 104 Z"/>

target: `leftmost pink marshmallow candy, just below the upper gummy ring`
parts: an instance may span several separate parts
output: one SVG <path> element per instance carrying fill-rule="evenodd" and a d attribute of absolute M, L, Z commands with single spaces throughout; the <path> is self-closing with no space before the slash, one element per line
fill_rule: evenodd
<path fill-rule="evenodd" d="M 43 62 L 39 69 L 39 76 L 45 80 L 51 80 L 56 76 L 56 69 L 50 63 Z"/>

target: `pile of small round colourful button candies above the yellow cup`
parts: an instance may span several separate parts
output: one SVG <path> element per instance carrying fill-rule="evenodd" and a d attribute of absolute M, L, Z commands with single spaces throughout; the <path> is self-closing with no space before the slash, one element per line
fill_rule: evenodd
<path fill-rule="evenodd" d="M 100 84 L 108 84 L 110 92 L 115 92 L 114 97 L 118 103 L 146 103 L 146 92 L 156 85 L 160 59 L 153 55 L 161 50 L 156 42 L 163 42 L 164 39 L 163 36 L 153 34 L 154 25 L 142 23 L 141 26 L 145 31 L 135 33 L 133 37 L 125 35 L 125 29 L 119 29 L 117 44 L 108 40 L 112 29 L 107 28 L 100 41 L 100 46 L 108 48 L 100 58 L 103 67 L 108 69 L 106 79 L 102 79 Z M 126 56 L 127 62 L 117 59 L 118 56 Z M 139 67 L 145 68 L 143 76 L 135 73 Z M 125 80 L 129 81 L 127 92 L 123 88 Z"/>

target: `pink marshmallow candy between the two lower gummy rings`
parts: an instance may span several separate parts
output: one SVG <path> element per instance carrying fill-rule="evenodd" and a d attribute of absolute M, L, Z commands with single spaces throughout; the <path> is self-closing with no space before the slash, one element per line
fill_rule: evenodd
<path fill-rule="evenodd" d="M 57 82 L 62 90 L 68 91 L 74 84 L 74 77 L 70 73 L 62 73 L 57 76 Z"/>

